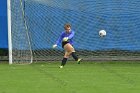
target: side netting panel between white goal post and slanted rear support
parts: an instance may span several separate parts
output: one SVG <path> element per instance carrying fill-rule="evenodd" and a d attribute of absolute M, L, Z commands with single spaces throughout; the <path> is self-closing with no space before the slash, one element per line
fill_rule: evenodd
<path fill-rule="evenodd" d="M 11 0 L 11 35 L 12 61 L 14 63 L 31 63 L 32 52 L 22 0 Z"/>

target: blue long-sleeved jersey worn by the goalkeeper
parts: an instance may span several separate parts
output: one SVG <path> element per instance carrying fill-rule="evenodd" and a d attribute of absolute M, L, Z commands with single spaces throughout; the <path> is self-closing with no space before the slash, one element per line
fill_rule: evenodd
<path fill-rule="evenodd" d="M 72 39 L 73 39 L 73 36 L 74 36 L 74 31 L 73 31 L 73 30 L 71 30 L 69 33 L 67 33 L 67 32 L 62 32 L 62 34 L 61 34 L 61 36 L 58 38 L 56 44 L 58 45 L 60 42 L 62 42 L 64 37 L 68 37 L 69 43 L 70 43 L 70 44 L 73 44 L 73 40 L 72 40 Z"/>

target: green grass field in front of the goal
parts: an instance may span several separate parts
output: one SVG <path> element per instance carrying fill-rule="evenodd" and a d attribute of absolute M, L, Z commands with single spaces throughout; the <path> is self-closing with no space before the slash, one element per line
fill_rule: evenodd
<path fill-rule="evenodd" d="M 140 62 L 0 63 L 0 93 L 140 93 Z"/>

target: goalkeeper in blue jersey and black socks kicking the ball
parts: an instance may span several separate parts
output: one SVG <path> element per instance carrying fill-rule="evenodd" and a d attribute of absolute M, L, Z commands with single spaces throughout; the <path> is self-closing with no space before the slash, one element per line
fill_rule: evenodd
<path fill-rule="evenodd" d="M 70 55 L 72 55 L 72 57 L 75 59 L 75 61 L 77 61 L 78 64 L 80 64 L 81 61 L 81 59 L 76 55 L 75 49 L 73 47 L 74 31 L 71 29 L 71 25 L 68 23 L 65 24 L 64 29 L 65 31 L 62 32 L 57 42 L 53 45 L 53 48 L 55 48 L 59 43 L 62 43 L 62 48 L 64 48 L 65 50 L 60 68 L 64 67 Z"/>

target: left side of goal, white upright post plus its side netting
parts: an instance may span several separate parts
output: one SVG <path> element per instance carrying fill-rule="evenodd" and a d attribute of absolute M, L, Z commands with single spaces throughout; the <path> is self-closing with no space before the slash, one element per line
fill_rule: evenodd
<path fill-rule="evenodd" d="M 30 64 L 32 63 L 33 55 L 24 16 L 23 0 L 7 0 L 7 14 L 9 64 Z"/>

